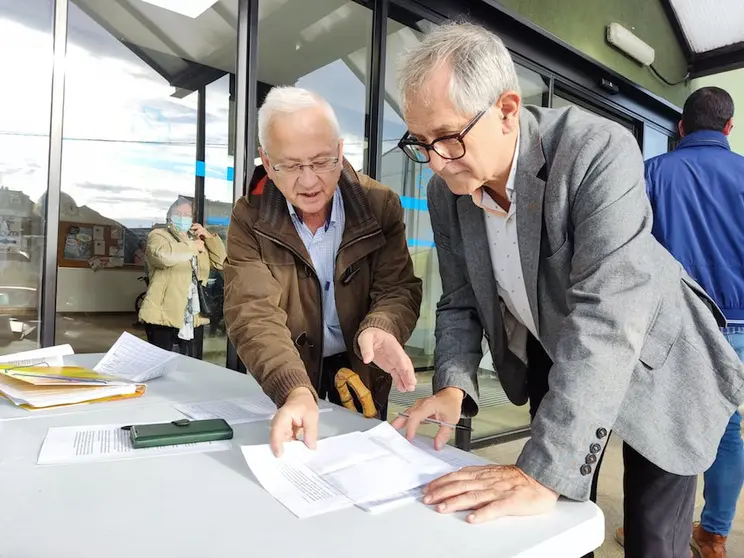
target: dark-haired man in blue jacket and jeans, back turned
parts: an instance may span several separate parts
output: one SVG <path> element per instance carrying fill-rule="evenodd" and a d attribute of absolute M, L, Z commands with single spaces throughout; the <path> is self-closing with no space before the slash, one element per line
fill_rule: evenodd
<path fill-rule="evenodd" d="M 734 102 L 704 87 L 685 102 L 677 149 L 646 162 L 652 233 L 723 310 L 723 333 L 744 360 L 744 157 L 731 151 Z M 742 416 L 731 417 L 705 473 L 700 523 L 691 545 L 703 558 L 726 556 L 726 537 L 744 483 Z"/>

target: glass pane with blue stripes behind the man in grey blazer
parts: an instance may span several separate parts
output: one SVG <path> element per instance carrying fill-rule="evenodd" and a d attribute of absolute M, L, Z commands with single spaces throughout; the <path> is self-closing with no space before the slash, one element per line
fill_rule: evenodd
<path fill-rule="evenodd" d="M 417 368 L 418 385 L 416 391 L 410 393 L 391 391 L 388 411 L 390 419 L 413 404 L 416 399 L 431 395 L 431 377 L 434 371 L 435 313 L 442 295 L 442 285 L 426 202 L 426 187 L 433 172 L 428 165 L 413 163 L 397 148 L 398 140 L 406 131 L 406 124 L 398 105 L 395 81 L 398 55 L 403 49 L 420 41 L 422 33 L 432 25 L 431 22 L 417 19 L 399 9 L 396 10 L 396 18 L 388 20 L 381 182 L 401 196 L 405 209 L 408 246 L 416 274 L 423 280 L 424 291 L 419 321 L 406 345 L 406 350 Z M 523 103 L 547 106 L 548 79 L 520 65 L 517 65 L 517 74 Z M 508 402 L 493 370 L 492 359 L 485 342 L 483 347 L 486 353 L 478 372 L 481 409 L 473 420 L 473 438 L 529 424 L 527 407 L 516 407 Z M 424 434 L 430 435 L 434 432 L 435 429 L 431 427 L 422 429 Z M 454 443 L 454 436 L 451 443 Z"/>

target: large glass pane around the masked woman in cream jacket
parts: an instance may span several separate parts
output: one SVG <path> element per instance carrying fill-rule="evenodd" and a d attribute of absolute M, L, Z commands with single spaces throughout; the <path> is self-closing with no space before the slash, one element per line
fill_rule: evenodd
<path fill-rule="evenodd" d="M 208 88 L 212 100 L 209 141 L 226 144 L 218 80 L 235 72 L 237 7 L 222 0 L 191 18 L 141 0 L 70 3 L 57 343 L 101 352 L 125 330 L 146 338 L 137 310 L 162 268 L 145 256 L 148 234 L 165 227 L 179 198 L 178 212 L 196 211 L 196 177 L 207 169 L 209 196 L 223 200 L 225 186 L 212 182 L 207 165 L 224 167 L 224 176 L 224 149 L 196 160 L 198 91 Z M 161 288 L 153 297 L 148 320 L 182 329 L 186 295 Z"/>

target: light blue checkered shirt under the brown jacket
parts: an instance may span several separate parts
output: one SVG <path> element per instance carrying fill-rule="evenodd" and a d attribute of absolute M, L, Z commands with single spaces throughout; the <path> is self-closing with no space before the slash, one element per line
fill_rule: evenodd
<path fill-rule="evenodd" d="M 336 269 L 336 254 L 341 246 L 341 236 L 344 234 L 346 215 L 344 213 L 344 200 L 341 197 L 341 189 L 336 188 L 333 194 L 333 207 L 331 216 L 325 227 L 310 232 L 297 215 L 294 206 L 287 202 L 289 215 L 292 223 L 300 235 L 305 248 L 310 253 L 315 273 L 318 274 L 321 292 L 323 293 L 323 356 L 331 356 L 346 351 L 346 343 L 341 332 L 336 311 L 335 285 L 333 275 Z"/>

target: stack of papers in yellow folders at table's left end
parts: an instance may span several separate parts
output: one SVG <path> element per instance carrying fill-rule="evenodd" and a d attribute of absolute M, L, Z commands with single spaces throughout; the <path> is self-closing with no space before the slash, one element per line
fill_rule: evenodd
<path fill-rule="evenodd" d="M 0 393 L 33 410 L 138 397 L 145 386 L 77 366 L 0 364 Z"/>

